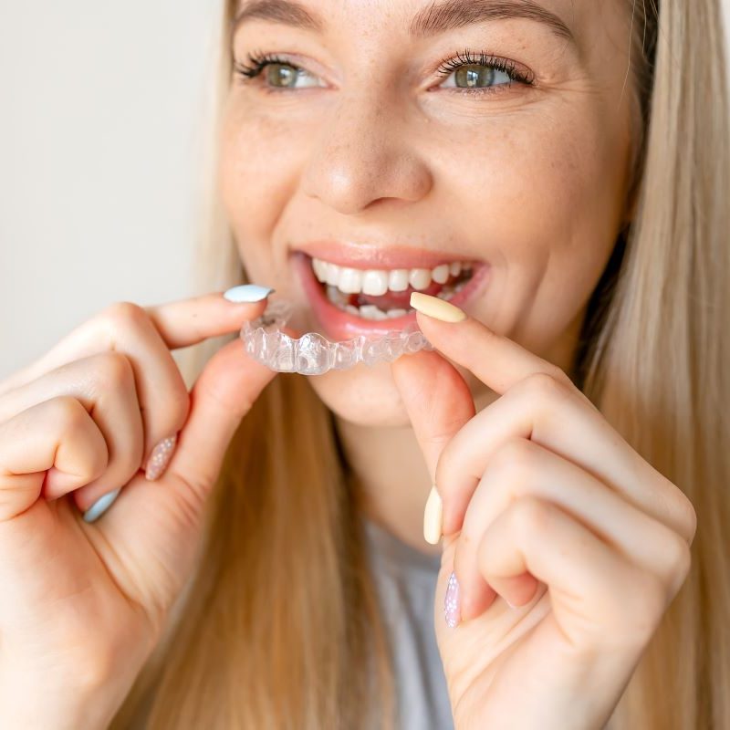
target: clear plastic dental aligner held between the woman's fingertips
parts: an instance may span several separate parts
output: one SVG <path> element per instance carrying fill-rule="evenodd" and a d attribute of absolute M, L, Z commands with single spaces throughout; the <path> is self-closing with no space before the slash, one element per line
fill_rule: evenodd
<path fill-rule="evenodd" d="M 317 332 L 295 339 L 281 331 L 291 312 L 291 305 L 279 299 L 270 301 L 261 317 L 246 321 L 240 333 L 246 354 L 278 372 L 321 375 L 328 370 L 348 370 L 359 362 L 372 367 L 420 349 L 433 349 L 414 322 L 384 335 L 360 335 L 341 342 L 330 342 Z"/>

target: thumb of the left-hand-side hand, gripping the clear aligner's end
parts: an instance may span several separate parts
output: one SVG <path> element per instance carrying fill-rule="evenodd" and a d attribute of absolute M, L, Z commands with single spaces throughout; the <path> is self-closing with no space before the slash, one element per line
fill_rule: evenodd
<path fill-rule="evenodd" d="M 193 384 L 190 413 L 167 472 L 197 493 L 207 492 L 236 428 L 276 374 L 249 358 L 241 339 L 217 350 Z"/>

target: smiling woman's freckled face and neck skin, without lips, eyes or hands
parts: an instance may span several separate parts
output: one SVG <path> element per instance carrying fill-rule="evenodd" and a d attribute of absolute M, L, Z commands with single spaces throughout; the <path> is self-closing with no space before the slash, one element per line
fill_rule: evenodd
<path fill-rule="evenodd" d="M 262 76 L 231 79 L 219 181 L 240 254 L 251 280 L 275 287 L 315 328 L 290 257 L 308 240 L 486 261 L 465 311 L 569 372 L 586 302 L 628 216 L 629 13 L 618 0 L 544 3 L 575 42 L 525 18 L 412 38 L 426 5 L 308 0 L 322 31 L 260 18 L 237 27 L 236 62 L 271 53 L 324 84 L 267 91 Z M 426 70 L 466 48 L 514 61 L 534 85 L 464 91 Z M 477 410 L 495 400 L 459 370 Z M 422 539 L 430 479 L 389 366 L 310 381 L 336 415 L 370 516 L 437 551 Z"/>

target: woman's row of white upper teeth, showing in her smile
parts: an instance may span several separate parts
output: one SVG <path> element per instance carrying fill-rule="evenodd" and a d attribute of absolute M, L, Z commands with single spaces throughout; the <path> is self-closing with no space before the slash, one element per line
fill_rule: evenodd
<path fill-rule="evenodd" d="M 380 297 L 389 289 L 405 291 L 409 286 L 425 289 L 432 281 L 445 284 L 449 276 L 459 276 L 462 270 L 471 268 L 468 262 L 454 261 L 435 268 L 361 269 L 338 266 L 329 261 L 312 258 L 312 268 L 318 280 L 338 287 L 345 294 L 370 294 Z"/>

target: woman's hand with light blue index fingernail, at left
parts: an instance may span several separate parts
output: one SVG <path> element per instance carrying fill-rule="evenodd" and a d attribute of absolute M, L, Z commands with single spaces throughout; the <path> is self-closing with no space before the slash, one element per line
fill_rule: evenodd
<path fill-rule="evenodd" d="M 192 571 L 228 443 L 276 375 L 236 339 L 188 393 L 170 350 L 265 308 L 220 293 L 120 302 L 0 382 L 0 726 L 106 727 L 129 693 Z M 154 446 L 175 435 L 149 481 Z"/>

